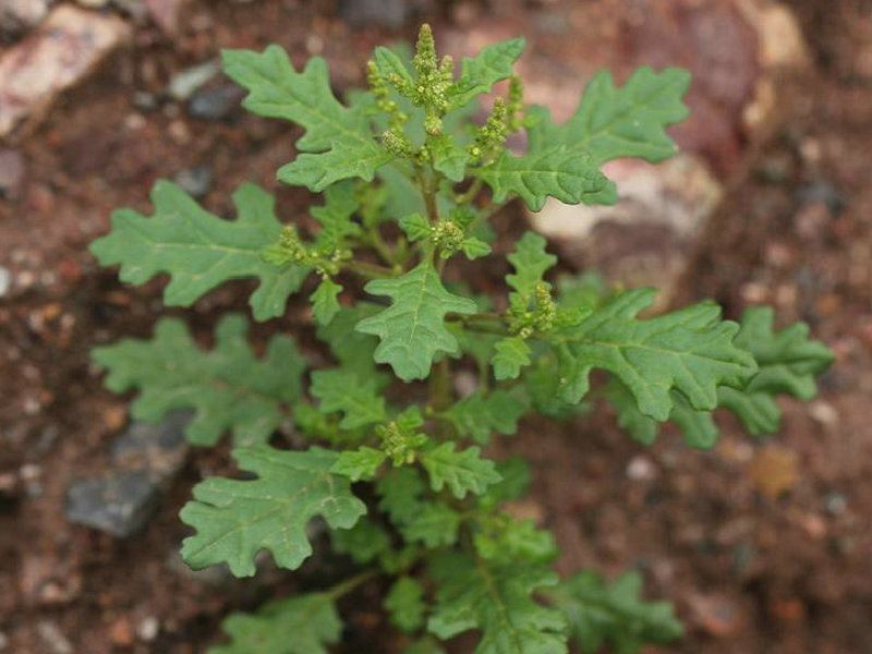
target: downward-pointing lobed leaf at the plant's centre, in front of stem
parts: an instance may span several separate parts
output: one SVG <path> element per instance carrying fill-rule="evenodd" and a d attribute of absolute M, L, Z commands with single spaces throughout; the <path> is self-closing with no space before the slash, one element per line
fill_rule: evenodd
<path fill-rule="evenodd" d="M 376 279 L 365 287 L 387 295 L 390 307 L 358 323 L 356 330 L 382 339 L 377 363 L 388 363 L 403 382 L 424 379 L 437 352 L 453 354 L 457 339 L 445 328 L 447 313 L 470 314 L 475 303 L 445 290 L 429 261 L 397 279 Z"/>

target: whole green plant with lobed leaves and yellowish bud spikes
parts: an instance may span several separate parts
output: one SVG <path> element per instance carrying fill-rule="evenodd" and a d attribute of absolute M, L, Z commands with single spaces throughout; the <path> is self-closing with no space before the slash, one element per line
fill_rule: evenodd
<path fill-rule="evenodd" d="M 664 130 L 687 114 L 687 72 L 641 69 L 621 87 L 601 73 L 576 113 L 555 124 L 547 109 L 523 102 L 512 74 L 522 48 L 521 39 L 488 46 L 458 75 L 450 58 L 437 59 L 425 25 L 411 62 L 375 50 L 370 88 L 348 105 L 331 93 L 322 59 L 298 72 L 276 46 L 225 51 L 227 73 L 249 90 L 245 107 L 305 130 L 301 154 L 278 178 L 323 192 L 311 211 L 317 226 L 280 222 L 270 195 L 252 184 L 235 192 L 239 217 L 227 221 L 159 182 L 153 217 L 120 210 L 94 243 L 124 281 L 168 274 L 167 305 L 256 278 L 250 304 L 267 320 L 284 315 L 310 277 L 317 281 L 308 299 L 330 367 L 308 372 L 287 336 L 258 359 L 238 315 L 218 325 L 211 351 L 180 320 L 164 319 L 150 341 L 94 352 L 111 390 L 141 391 L 134 417 L 186 408 L 191 443 L 232 434 L 247 474 L 194 488 L 181 512 L 194 530 L 182 547 L 190 566 L 226 564 L 245 577 L 268 550 L 298 569 L 313 550 L 310 521 L 320 517 L 334 550 L 361 568 L 327 591 L 230 616 L 230 642 L 215 654 L 326 652 L 340 639 L 337 600 L 375 577 L 391 580 L 384 607 L 407 654 L 441 652 L 439 641 L 472 629 L 481 631 L 479 654 L 561 653 L 570 637 L 589 653 L 605 642 L 629 653 L 673 640 L 680 623 L 667 604 L 641 600 L 638 573 L 560 581 L 550 533 L 505 510 L 526 488 L 526 464 L 492 461 L 481 448 L 494 433 L 514 434 L 529 411 L 568 419 L 598 400 L 642 443 L 671 421 L 691 446 L 711 447 L 718 407 L 764 434 L 778 426 L 777 393 L 815 393 L 831 354 L 804 325 L 774 331 L 773 313 L 760 307 L 741 324 L 722 320 L 712 303 L 639 318 L 653 290 L 608 289 L 590 277 L 555 286 L 546 276 L 557 257 L 531 232 L 508 255 L 507 298 L 447 281 L 469 269 L 462 259 L 492 253 L 488 219 L 507 202 L 614 203 L 604 162 L 659 161 L 676 150 Z M 507 97 L 473 125 L 477 96 L 502 80 Z M 505 145 L 520 131 L 523 155 Z M 460 368 L 479 380 L 462 398 Z M 594 389 L 592 368 L 608 373 Z M 293 443 L 307 445 L 271 446 L 291 423 Z"/>

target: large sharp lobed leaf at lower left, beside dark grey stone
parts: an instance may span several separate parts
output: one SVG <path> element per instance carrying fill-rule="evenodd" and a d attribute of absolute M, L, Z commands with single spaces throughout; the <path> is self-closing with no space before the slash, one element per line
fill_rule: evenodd
<path fill-rule="evenodd" d="M 257 479 L 207 479 L 194 486 L 194 499 L 180 513 L 196 530 L 182 543 L 182 558 L 194 570 L 227 564 L 235 577 L 252 577 L 262 549 L 280 568 L 295 570 L 312 554 L 306 536 L 312 518 L 350 529 L 366 513 L 349 481 L 330 473 L 337 452 L 257 446 L 233 450 L 233 458 Z"/>

